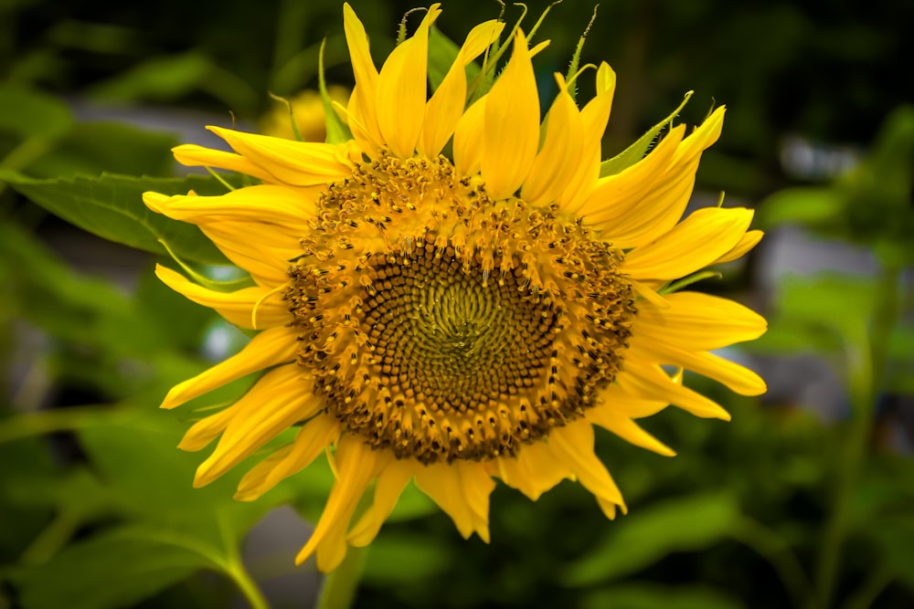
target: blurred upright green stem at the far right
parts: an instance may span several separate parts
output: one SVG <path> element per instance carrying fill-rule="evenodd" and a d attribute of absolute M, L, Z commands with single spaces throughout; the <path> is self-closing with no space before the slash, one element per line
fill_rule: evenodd
<path fill-rule="evenodd" d="M 869 340 L 860 345 L 863 353 L 849 355 L 851 421 L 839 461 L 834 508 L 825 524 L 824 539 L 816 571 L 816 601 L 811 609 L 826 609 L 834 594 L 841 567 L 841 550 L 847 535 L 851 502 L 857 478 L 866 459 L 866 444 L 873 426 L 879 387 L 886 366 L 888 342 L 898 320 L 898 279 L 900 270 L 884 267 L 876 287 L 876 307 L 869 326 Z M 858 355 L 855 358 L 855 355 Z"/>

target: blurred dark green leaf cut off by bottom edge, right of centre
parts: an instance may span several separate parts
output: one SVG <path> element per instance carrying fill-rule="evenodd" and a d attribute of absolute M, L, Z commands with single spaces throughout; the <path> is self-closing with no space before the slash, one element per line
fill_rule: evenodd
<path fill-rule="evenodd" d="M 581 609 L 740 609 L 745 604 L 705 586 L 625 583 L 584 597 Z"/>

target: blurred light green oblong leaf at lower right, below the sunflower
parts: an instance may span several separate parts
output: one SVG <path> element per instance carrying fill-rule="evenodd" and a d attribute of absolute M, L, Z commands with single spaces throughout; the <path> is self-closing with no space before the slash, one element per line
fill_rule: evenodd
<path fill-rule="evenodd" d="M 572 563 L 563 579 L 590 585 L 641 571 L 671 552 L 702 550 L 726 538 L 738 518 L 728 494 L 666 500 L 616 522 L 611 536 Z"/>

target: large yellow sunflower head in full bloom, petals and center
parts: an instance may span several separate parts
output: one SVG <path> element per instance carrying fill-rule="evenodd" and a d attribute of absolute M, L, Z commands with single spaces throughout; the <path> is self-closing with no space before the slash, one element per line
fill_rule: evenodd
<path fill-rule="evenodd" d="M 580 109 L 556 75 L 541 123 L 531 61 L 539 47 L 519 28 L 505 68 L 472 96 L 465 68 L 497 47 L 504 26 L 487 21 L 429 94 L 429 29 L 440 13 L 432 5 L 378 71 L 345 5 L 356 87 L 337 110 L 348 141 L 210 127 L 235 152 L 183 145 L 177 160 L 260 184 L 221 196 L 144 195 L 155 212 L 199 226 L 254 284 L 226 293 L 157 269 L 170 288 L 256 331 L 162 404 L 262 373 L 187 431 L 187 450 L 218 437 L 195 485 L 298 426 L 236 497 L 256 499 L 326 456 L 335 485 L 297 557 L 316 552 L 324 572 L 349 545 L 375 538 L 410 481 L 463 537 L 484 541 L 494 478 L 533 500 L 576 479 L 613 518 L 625 504 L 594 454 L 594 425 L 673 455 L 637 419 L 669 404 L 729 418 L 685 387 L 681 370 L 739 394 L 765 391 L 758 375 L 712 353 L 758 337 L 765 321 L 728 299 L 668 289 L 761 236 L 749 230 L 749 209 L 682 218 L 724 109 L 688 135 L 670 128 L 642 160 L 600 175 L 611 68 L 596 68 L 595 96 Z"/>

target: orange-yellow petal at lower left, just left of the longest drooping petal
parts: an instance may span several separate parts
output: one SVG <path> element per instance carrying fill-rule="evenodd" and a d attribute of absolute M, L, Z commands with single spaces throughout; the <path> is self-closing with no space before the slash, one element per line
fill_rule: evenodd
<path fill-rule="evenodd" d="M 307 425 L 302 425 L 291 445 L 263 459 L 241 478 L 235 499 L 253 501 L 260 498 L 282 479 L 289 478 L 311 465 L 339 435 L 340 425 L 333 417 L 315 416 Z"/>

